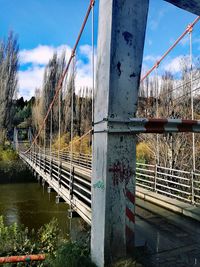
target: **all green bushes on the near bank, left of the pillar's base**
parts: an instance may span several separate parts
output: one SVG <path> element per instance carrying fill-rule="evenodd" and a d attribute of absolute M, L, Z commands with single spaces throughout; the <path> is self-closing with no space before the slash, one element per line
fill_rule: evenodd
<path fill-rule="evenodd" d="M 46 254 L 47 260 L 34 263 L 37 267 L 95 267 L 89 249 L 77 242 L 62 240 L 58 222 L 53 219 L 37 233 L 16 223 L 6 226 L 0 216 L 0 257 L 28 254 Z M 6 267 L 24 266 L 21 263 Z"/>

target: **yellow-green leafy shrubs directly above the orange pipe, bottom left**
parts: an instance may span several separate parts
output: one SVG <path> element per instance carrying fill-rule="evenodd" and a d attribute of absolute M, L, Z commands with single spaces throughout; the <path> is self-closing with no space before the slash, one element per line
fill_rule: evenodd
<path fill-rule="evenodd" d="M 37 233 L 16 223 L 6 226 L 0 216 L 0 256 L 45 253 L 53 255 L 58 246 L 60 230 L 53 219 Z"/>

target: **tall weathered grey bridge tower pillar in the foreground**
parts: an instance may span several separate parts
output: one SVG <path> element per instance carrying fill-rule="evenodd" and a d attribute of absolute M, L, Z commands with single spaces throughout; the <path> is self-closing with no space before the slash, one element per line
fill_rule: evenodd
<path fill-rule="evenodd" d="M 148 4 L 100 0 L 91 233 L 100 267 L 134 249 L 135 138 L 109 128 L 127 129 L 136 112 Z"/>

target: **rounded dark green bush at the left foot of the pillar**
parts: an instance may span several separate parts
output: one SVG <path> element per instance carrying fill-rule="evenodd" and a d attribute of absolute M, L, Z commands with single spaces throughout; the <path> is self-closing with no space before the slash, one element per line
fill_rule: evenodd
<path fill-rule="evenodd" d="M 89 249 L 77 242 L 68 241 L 59 246 L 56 257 L 49 260 L 49 267 L 95 267 Z"/>

